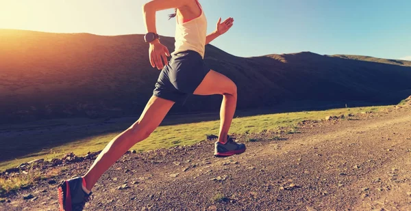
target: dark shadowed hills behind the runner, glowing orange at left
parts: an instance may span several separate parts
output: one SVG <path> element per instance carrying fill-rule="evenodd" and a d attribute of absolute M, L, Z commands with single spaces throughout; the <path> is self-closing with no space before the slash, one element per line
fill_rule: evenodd
<path fill-rule="evenodd" d="M 173 38 L 162 43 L 173 51 Z M 0 29 L 0 61 L 3 123 L 139 115 L 160 73 L 142 35 Z M 238 85 L 238 109 L 396 104 L 411 94 L 411 64 L 400 60 L 310 52 L 244 58 L 208 45 L 206 62 Z M 171 112 L 218 111 L 220 101 L 193 96 Z"/>

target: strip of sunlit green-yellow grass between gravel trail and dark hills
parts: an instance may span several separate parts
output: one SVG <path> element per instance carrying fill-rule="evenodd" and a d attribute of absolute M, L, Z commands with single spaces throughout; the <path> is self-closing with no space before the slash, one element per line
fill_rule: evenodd
<path fill-rule="evenodd" d="M 328 115 L 348 115 L 349 113 L 378 111 L 383 108 L 386 107 L 360 107 L 350 109 L 332 109 L 327 111 L 277 113 L 237 117 L 233 120 L 230 133 L 242 135 L 246 133 L 262 132 L 263 130 L 277 131 L 279 127 L 296 126 L 298 122 L 303 120 L 324 119 L 324 117 Z M 198 118 L 196 121 L 198 121 Z M 105 127 L 105 129 L 102 128 L 103 126 L 96 126 L 95 128 L 75 128 L 52 134 L 42 133 L 39 135 L 21 136 L 18 141 L 16 141 L 15 138 L 0 140 L 0 154 L 6 152 L 32 152 L 25 154 L 25 156 L 20 156 L 14 160 L 3 161 L 0 163 L 0 171 L 11 167 L 16 167 L 20 163 L 38 158 L 45 158 L 47 160 L 62 157 L 68 152 L 73 152 L 79 156 L 84 156 L 87 152 L 102 150 L 112 138 L 118 135 L 124 128 L 127 128 L 127 126 L 110 126 L 110 130 L 112 130 L 111 132 L 108 132 L 107 127 Z M 160 126 L 148 139 L 134 145 L 132 150 L 144 152 L 147 150 L 168 148 L 177 145 L 192 145 L 206 139 L 207 134 L 218 135 L 218 131 L 219 121 Z M 82 136 L 78 136 L 76 132 L 81 133 Z M 298 130 L 294 127 L 288 132 L 296 133 Z M 68 137 L 71 138 L 71 141 L 61 141 L 70 140 L 67 139 Z M 273 139 L 275 140 L 277 138 L 273 137 Z M 54 144 L 52 145 L 52 148 L 50 148 L 51 144 Z M 30 151 L 32 150 L 32 147 L 37 147 L 40 150 L 38 150 L 38 152 Z"/>

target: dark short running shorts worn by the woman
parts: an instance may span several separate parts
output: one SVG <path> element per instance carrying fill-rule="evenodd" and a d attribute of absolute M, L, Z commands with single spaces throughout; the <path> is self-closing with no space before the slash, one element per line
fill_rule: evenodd
<path fill-rule="evenodd" d="M 184 102 L 208 72 L 210 68 L 196 51 L 176 53 L 158 76 L 153 95 L 173 102 Z"/>

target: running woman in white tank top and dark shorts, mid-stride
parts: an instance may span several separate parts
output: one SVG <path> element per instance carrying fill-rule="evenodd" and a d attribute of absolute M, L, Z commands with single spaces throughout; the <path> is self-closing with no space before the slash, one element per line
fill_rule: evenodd
<path fill-rule="evenodd" d="M 171 54 L 161 44 L 155 27 L 155 13 L 175 9 L 175 51 Z M 229 137 L 237 103 L 237 87 L 232 80 L 210 70 L 204 63 L 206 44 L 227 32 L 234 23 L 219 18 L 215 31 L 206 34 L 207 20 L 198 0 L 153 0 L 142 7 L 149 44 L 149 59 L 153 68 L 162 70 L 151 96 L 140 118 L 127 130 L 117 135 L 99 154 L 88 172 L 82 177 L 62 181 L 58 187 L 60 210 L 83 210 L 90 198 L 92 187 L 130 147 L 147 139 L 157 128 L 175 102 L 184 102 L 191 94 L 208 96 L 221 94 L 219 139 L 215 143 L 215 156 L 232 156 L 245 152 L 245 145 Z"/>

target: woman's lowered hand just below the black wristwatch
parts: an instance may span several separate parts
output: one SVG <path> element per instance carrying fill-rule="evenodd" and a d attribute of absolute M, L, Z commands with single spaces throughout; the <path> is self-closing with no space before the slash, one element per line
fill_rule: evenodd
<path fill-rule="evenodd" d="M 150 64 L 153 68 L 157 67 L 158 70 L 162 70 L 162 68 L 164 68 L 164 66 L 169 63 L 169 61 L 167 61 L 167 57 L 169 56 L 169 49 L 161 44 L 160 40 L 154 40 L 153 42 L 150 42 L 149 58 Z"/>

